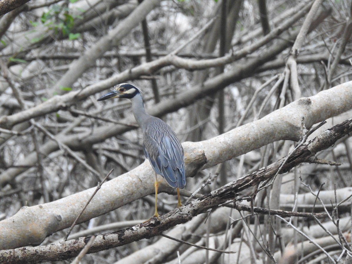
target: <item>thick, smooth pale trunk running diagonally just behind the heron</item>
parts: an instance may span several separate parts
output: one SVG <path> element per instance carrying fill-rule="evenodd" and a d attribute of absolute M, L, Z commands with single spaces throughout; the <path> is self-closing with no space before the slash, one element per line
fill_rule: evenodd
<path fill-rule="evenodd" d="M 348 82 L 322 91 L 310 98 L 302 98 L 260 120 L 240 126 L 212 139 L 197 143 L 183 143 L 187 176 L 194 175 L 199 169 L 209 168 L 279 139 L 298 140 L 301 136 L 302 117 L 306 120 L 306 126 L 310 127 L 352 108 L 351 86 L 352 82 Z M 71 139 L 66 140 L 70 141 Z M 319 150 L 311 149 L 310 151 L 312 155 L 315 155 Z M 33 156 L 36 156 L 36 153 L 33 153 Z M 301 162 L 307 161 L 307 157 L 305 158 L 303 159 L 302 156 Z M 314 160 L 312 159 L 310 162 L 314 162 Z M 287 164 L 291 164 L 291 159 Z M 287 164 L 282 171 L 287 171 Z M 279 165 L 279 163 L 276 164 L 276 166 Z M 271 169 L 271 172 L 274 170 L 275 167 Z M 7 173 L 9 175 L 9 171 Z M 259 182 L 259 179 L 264 180 L 269 175 L 267 170 L 262 170 L 260 173 L 261 176 L 252 178 L 252 181 Z M 2 174 L 1 180 L 6 180 L 7 175 Z M 136 169 L 109 181 L 108 184 L 103 184 L 102 191 L 96 194 L 80 221 L 86 221 L 153 193 L 154 184 L 150 181 L 152 177 L 154 177 L 154 173 L 146 161 Z M 248 187 L 246 184 L 243 188 Z M 133 195 L 130 192 L 132 186 Z M 167 188 L 165 183 L 160 184 L 160 190 L 165 188 Z M 37 244 L 47 235 L 70 226 L 74 221 L 75 213 L 86 203 L 93 191 L 94 189 L 89 189 L 45 205 L 24 207 L 12 218 L 1 221 L 0 229 L 9 232 L 2 235 L 1 248 Z M 20 220 L 23 217 L 25 220 Z M 28 223 L 26 227 L 22 225 L 23 221 Z M 33 232 L 37 236 L 33 235 Z M 14 234 L 17 235 L 14 236 Z"/>

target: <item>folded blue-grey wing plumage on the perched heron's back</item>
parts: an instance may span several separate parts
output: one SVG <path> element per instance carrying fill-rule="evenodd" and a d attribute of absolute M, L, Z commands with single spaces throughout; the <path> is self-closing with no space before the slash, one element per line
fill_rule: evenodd
<path fill-rule="evenodd" d="M 186 185 L 183 148 L 176 134 L 161 119 L 149 121 L 144 132 L 144 153 L 154 171 L 173 188 Z"/>

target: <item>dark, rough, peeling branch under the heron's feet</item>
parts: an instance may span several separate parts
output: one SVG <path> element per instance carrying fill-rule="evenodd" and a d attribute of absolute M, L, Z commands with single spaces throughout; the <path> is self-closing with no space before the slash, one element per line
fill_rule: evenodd
<path fill-rule="evenodd" d="M 198 214 L 233 201 L 241 190 L 256 186 L 259 182 L 274 177 L 283 162 L 285 164 L 281 168 L 281 173 L 287 172 L 303 162 L 314 163 L 316 153 L 334 145 L 338 139 L 349 136 L 351 132 L 352 118 L 323 131 L 318 137 L 302 144 L 289 154 L 288 159 L 283 157 L 269 166 L 230 182 L 210 194 L 162 215 L 160 220 L 152 218 L 147 222 L 125 230 L 96 236 L 88 253 L 126 245 L 143 238 L 154 237 L 171 227 L 191 220 Z M 68 259 L 77 256 L 89 240 L 90 237 L 82 237 L 67 241 L 62 240 L 59 243 L 45 246 L 2 250 L 0 251 L 0 263 L 38 263 Z"/>

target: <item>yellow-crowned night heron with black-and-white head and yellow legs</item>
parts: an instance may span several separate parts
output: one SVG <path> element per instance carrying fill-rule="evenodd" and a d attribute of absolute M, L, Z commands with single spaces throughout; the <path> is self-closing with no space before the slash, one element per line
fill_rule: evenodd
<path fill-rule="evenodd" d="M 112 92 L 101 96 L 98 101 L 109 98 L 127 98 L 132 101 L 134 118 L 143 131 L 144 154 L 149 159 L 156 174 L 165 178 L 166 182 L 177 190 L 177 206 L 181 206 L 178 188 L 186 185 L 184 173 L 183 149 L 176 134 L 163 120 L 145 112 L 140 90 L 129 83 L 121 83 L 114 87 Z M 157 210 L 158 182 L 155 175 L 155 213 Z"/>

